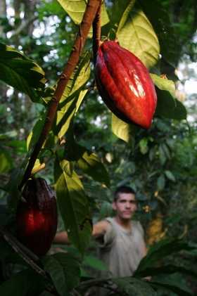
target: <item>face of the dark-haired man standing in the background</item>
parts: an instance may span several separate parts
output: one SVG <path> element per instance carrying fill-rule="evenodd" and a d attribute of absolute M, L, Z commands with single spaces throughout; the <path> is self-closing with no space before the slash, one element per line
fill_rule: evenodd
<path fill-rule="evenodd" d="M 113 202 L 113 210 L 120 219 L 131 219 L 136 211 L 135 195 L 132 193 L 119 193 L 117 200 Z"/>

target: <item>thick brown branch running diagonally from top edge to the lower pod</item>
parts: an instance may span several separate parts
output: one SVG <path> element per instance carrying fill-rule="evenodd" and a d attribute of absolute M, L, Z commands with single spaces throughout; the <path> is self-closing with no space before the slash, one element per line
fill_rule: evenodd
<path fill-rule="evenodd" d="M 25 170 L 25 174 L 23 175 L 23 179 L 20 185 L 18 186 L 19 189 L 21 189 L 25 184 L 25 182 L 27 181 L 27 179 L 30 178 L 32 168 L 34 167 L 34 163 L 37 159 L 39 151 L 42 149 L 42 145 L 46 140 L 46 137 L 48 136 L 51 126 L 53 124 L 53 120 L 56 116 L 56 110 L 58 108 L 58 103 L 61 100 L 61 96 L 63 95 L 65 86 L 68 84 L 70 76 L 72 75 L 72 72 L 75 70 L 75 67 L 80 59 L 80 53 L 82 52 L 82 49 L 84 47 L 84 42 L 87 39 L 89 29 L 96 15 L 96 11 L 98 9 L 99 4 L 100 4 L 100 0 L 89 0 L 89 3 L 87 4 L 87 8 L 86 8 L 86 11 L 84 12 L 84 16 L 82 19 L 82 23 L 80 25 L 79 32 L 77 34 L 77 38 L 75 40 L 75 44 L 70 53 L 68 63 L 67 65 L 65 65 L 63 73 L 58 81 L 53 98 L 51 99 L 49 110 L 46 115 L 44 127 L 42 129 L 42 132 L 39 136 L 37 143 L 34 146 L 34 150 L 30 157 L 30 161 L 27 165 L 27 168 Z"/>

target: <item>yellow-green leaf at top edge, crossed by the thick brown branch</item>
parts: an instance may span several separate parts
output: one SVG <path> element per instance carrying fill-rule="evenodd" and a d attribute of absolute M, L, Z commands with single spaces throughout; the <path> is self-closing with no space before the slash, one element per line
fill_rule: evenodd
<path fill-rule="evenodd" d="M 82 17 L 84 15 L 85 8 L 87 6 L 87 1 L 84 0 L 58 0 L 59 4 L 68 13 L 70 18 L 79 25 L 82 22 Z M 109 21 L 108 14 L 106 12 L 106 6 L 104 3 L 101 7 L 101 25 L 106 25 Z"/>

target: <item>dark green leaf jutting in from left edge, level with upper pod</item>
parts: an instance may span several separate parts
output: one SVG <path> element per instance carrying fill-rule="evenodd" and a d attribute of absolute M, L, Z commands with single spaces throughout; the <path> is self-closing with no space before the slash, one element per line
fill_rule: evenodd
<path fill-rule="evenodd" d="M 0 79 L 39 101 L 36 89 L 44 88 L 44 71 L 37 63 L 11 46 L 0 44 Z"/>

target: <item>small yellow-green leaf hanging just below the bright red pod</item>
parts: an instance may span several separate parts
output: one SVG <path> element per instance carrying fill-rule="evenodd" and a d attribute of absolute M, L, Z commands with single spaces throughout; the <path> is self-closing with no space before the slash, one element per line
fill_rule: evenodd
<path fill-rule="evenodd" d="M 132 129 L 132 124 L 127 124 L 126 122 L 120 120 L 120 118 L 116 117 L 113 113 L 111 114 L 111 127 L 113 134 L 120 138 L 121 140 L 129 143 L 129 140 L 131 139 L 130 133 L 134 132 L 134 129 Z"/>

